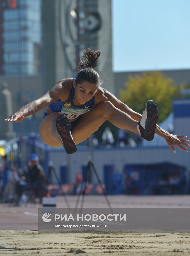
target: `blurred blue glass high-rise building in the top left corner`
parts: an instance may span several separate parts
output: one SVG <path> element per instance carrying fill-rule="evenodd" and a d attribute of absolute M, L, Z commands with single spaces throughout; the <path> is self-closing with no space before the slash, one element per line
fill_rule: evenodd
<path fill-rule="evenodd" d="M 0 74 L 40 73 L 41 0 L 1 0 Z"/>

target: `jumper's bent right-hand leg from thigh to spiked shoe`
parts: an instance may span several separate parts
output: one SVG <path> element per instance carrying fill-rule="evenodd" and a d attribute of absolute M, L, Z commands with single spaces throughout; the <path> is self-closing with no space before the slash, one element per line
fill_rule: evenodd
<path fill-rule="evenodd" d="M 149 103 L 149 101 L 147 102 Z M 120 129 L 127 129 L 137 134 L 141 137 L 152 140 L 154 138 L 154 132 L 156 127 L 156 122 L 158 119 L 158 109 L 154 101 L 151 101 L 151 114 L 148 114 L 148 118 L 142 117 L 141 121 L 143 127 L 134 120 L 130 115 L 123 112 L 122 110 L 116 108 L 110 101 L 104 101 L 97 104 L 95 108 L 86 114 L 83 114 L 72 131 L 72 136 L 76 144 L 86 140 L 92 133 L 98 130 L 105 120 L 110 121 L 116 127 Z M 144 112 L 147 112 L 150 106 L 146 105 Z M 143 114 L 145 114 L 143 112 Z M 155 113 L 154 113 L 155 112 Z M 146 119 L 148 122 L 146 122 Z M 140 130 L 138 128 L 140 127 Z"/>

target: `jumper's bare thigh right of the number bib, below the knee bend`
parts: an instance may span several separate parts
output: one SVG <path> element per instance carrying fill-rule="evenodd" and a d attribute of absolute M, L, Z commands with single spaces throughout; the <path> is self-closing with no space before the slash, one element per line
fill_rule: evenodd
<path fill-rule="evenodd" d="M 102 114 L 101 103 L 96 105 L 93 110 L 83 114 L 72 131 L 72 137 L 75 144 L 86 140 L 93 132 L 106 120 Z"/>

